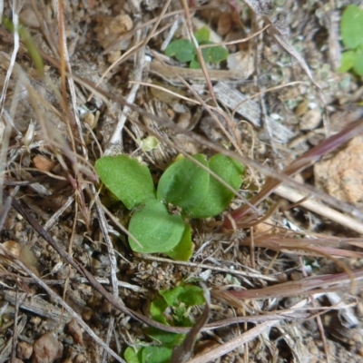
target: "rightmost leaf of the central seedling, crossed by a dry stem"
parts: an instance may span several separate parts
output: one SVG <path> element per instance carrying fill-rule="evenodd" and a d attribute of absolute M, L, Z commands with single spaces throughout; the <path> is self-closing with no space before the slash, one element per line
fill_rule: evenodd
<path fill-rule="evenodd" d="M 233 159 L 216 154 L 210 160 L 211 172 L 215 172 L 235 190 L 240 188 L 243 166 Z M 188 212 L 191 218 L 208 218 L 220 214 L 231 203 L 233 193 L 211 176 L 209 189 L 203 201 Z"/>

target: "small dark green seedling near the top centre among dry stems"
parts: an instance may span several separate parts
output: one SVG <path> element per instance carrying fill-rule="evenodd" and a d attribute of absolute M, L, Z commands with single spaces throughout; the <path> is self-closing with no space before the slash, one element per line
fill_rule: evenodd
<path fill-rule="evenodd" d="M 202 27 L 194 34 L 199 45 L 213 44 L 210 42 L 210 31 L 206 27 Z M 177 39 L 171 42 L 166 49 L 165 54 L 174 56 L 178 61 L 189 63 L 190 68 L 199 69 L 201 64 L 198 60 L 197 51 L 194 44 L 187 39 Z M 228 57 L 227 49 L 222 46 L 212 46 L 202 48 L 201 54 L 207 63 L 219 64 Z"/>

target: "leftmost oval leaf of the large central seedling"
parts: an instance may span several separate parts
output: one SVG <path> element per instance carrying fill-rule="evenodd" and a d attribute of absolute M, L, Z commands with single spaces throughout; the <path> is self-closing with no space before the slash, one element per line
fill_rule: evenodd
<path fill-rule="evenodd" d="M 95 169 L 106 188 L 123 201 L 128 210 L 155 198 L 149 169 L 127 155 L 104 156 L 97 160 Z"/>

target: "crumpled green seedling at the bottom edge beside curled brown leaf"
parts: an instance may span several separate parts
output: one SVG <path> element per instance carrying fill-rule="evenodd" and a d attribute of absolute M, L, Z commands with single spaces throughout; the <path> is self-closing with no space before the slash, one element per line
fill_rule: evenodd
<path fill-rule="evenodd" d="M 205 303 L 202 289 L 189 284 L 164 289 L 159 293 L 162 298 L 152 301 L 150 315 L 155 321 L 173 327 L 191 327 L 191 309 Z M 168 363 L 172 349 L 181 345 L 185 338 L 184 334 L 168 333 L 152 327 L 147 330 L 147 335 L 152 342 L 126 348 L 123 357 L 127 363 Z"/>

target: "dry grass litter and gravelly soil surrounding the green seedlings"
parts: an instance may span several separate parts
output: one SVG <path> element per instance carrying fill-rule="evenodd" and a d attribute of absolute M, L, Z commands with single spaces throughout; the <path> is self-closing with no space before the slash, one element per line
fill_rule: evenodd
<path fill-rule="evenodd" d="M 0 3 L 0 362 L 361 361 L 348 1 Z M 129 155 L 157 185 L 196 153 L 246 167 L 231 206 L 188 221 L 190 260 L 132 251 L 136 211 L 95 162 Z M 176 302 L 199 283 L 205 302 Z"/>

